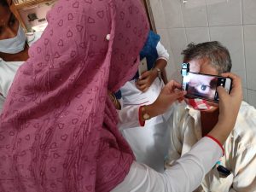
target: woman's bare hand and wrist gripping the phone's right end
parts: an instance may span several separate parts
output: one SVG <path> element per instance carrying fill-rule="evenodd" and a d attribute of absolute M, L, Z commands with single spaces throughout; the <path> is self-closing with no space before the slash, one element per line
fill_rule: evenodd
<path fill-rule="evenodd" d="M 223 73 L 222 76 L 232 79 L 232 89 L 228 94 L 222 86 L 218 86 L 218 123 L 208 135 L 215 137 L 223 144 L 236 124 L 236 118 L 241 106 L 242 89 L 241 79 L 236 74 Z"/>

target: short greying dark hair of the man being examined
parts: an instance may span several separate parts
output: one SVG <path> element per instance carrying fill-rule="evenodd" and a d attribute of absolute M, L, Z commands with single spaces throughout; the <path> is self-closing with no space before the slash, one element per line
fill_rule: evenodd
<path fill-rule="evenodd" d="M 219 74 L 230 72 L 232 67 L 229 50 L 218 41 L 191 43 L 183 50 L 182 55 L 184 62 L 207 58 Z"/>

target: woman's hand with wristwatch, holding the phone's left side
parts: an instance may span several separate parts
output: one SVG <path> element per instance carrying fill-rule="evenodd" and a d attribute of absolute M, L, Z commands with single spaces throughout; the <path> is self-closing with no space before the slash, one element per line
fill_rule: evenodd
<path fill-rule="evenodd" d="M 165 113 L 173 102 L 177 100 L 182 101 L 186 92 L 181 90 L 181 88 L 182 85 L 173 80 L 166 84 L 157 99 L 152 104 L 145 106 L 150 117 L 152 118 Z"/>

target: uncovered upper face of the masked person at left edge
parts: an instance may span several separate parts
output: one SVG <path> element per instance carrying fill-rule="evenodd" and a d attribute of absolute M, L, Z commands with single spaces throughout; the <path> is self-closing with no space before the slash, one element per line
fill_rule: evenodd
<path fill-rule="evenodd" d="M 19 29 L 19 21 L 9 7 L 0 5 L 0 40 L 15 38 Z"/>

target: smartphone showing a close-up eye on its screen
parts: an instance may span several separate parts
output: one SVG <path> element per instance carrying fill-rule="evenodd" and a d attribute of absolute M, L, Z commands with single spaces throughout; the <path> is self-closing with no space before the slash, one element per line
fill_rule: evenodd
<path fill-rule="evenodd" d="M 183 90 L 185 97 L 201 98 L 211 102 L 218 102 L 217 87 L 223 86 L 230 93 L 232 79 L 202 73 L 191 73 L 183 76 Z"/>

